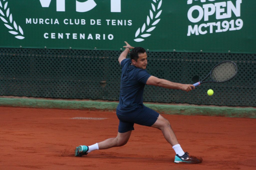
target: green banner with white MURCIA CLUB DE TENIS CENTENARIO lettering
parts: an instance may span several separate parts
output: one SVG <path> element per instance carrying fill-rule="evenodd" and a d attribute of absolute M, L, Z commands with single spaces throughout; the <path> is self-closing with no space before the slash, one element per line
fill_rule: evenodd
<path fill-rule="evenodd" d="M 0 47 L 256 53 L 254 0 L 0 0 Z"/>

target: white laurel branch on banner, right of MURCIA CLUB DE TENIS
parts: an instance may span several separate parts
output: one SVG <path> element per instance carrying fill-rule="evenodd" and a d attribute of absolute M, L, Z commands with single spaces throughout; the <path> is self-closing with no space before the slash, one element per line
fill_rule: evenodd
<path fill-rule="evenodd" d="M 138 37 L 139 35 L 140 35 L 141 37 L 143 37 L 143 38 L 149 37 L 151 34 L 144 33 L 144 31 L 145 31 L 145 30 L 146 30 L 146 32 L 151 32 L 151 31 L 153 31 L 153 30 L 156 28 L 154 25 L 156 25 L 156 24 L 161 20 L 160 18 L 159 18 L 159 19 L 157 19 L 157 18 L 158 18 L 158 17 L 161 15 L 161 13 L 162 13 L 162 10 L 159 11 L 159 9 L 160 9 L 161 6 L 162 6 L 162 0 L 161 0 L 161 1 L 159 1 L 159 0 L 152 0 L 152 1 L 155 3 L 155 5 L 154 5 L 153 3 L 151 3 L 151 5 L 152 5 L 152 10 L 153 10 L 154 12 L 152 12 L 151 9 L 149 10 L 149 14 L 150 14 L 150 15 L 147 16 L 147 23 L 144 23 L 141 28 L 138 28 L 138 30 L 137 30 L 136 33 L 135 33 L 135 38 Z M 157 6 L 157 8 L 156 8 L 156 6 Z M 154 14 L 156 14 L 155 17 L 154 17 Z M 155 19 L 156 19 L 156 20 L 155 20 Z M 155 20 L 155 21 L 154 21 L 154 20 Z M 151 21 L 152 21 L 152 24 L 150 24 Z M 154 22 L 153 22 L 153 21 L 154 21 Z M 148 28 L 148 27 L 150 27 L 150 28 Z M 148 28 L 148 29 L 147 29 L 147 28 Z M 141 42 L 141 41 L 144 41 L 143 38 L 136 38 L 136 39 L 134 39 L 134 41 L 136 41 L 136 42 Z"/>

